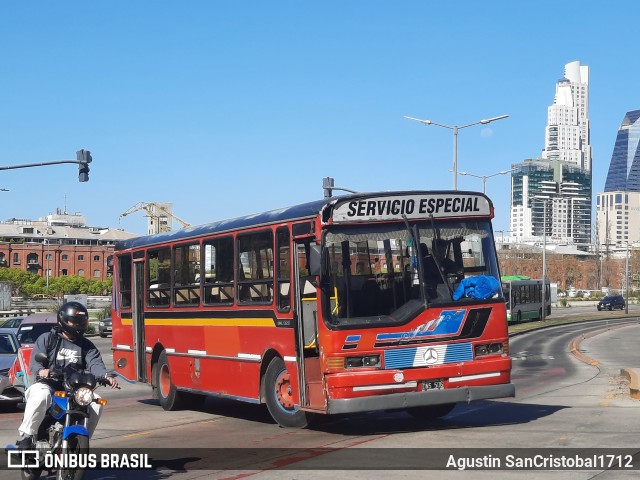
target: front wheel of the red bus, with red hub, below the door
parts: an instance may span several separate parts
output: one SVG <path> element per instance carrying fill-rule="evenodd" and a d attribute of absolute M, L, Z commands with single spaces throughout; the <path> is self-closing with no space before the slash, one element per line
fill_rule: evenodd
<path fill-rule="evenodd" d="M 287 428 L 304 428 L 312 414 L 299 410 L 294 403 L 291 378 L 284 361 L 275 357 L 264 374 L 265 402 L 271 417 Z"/>

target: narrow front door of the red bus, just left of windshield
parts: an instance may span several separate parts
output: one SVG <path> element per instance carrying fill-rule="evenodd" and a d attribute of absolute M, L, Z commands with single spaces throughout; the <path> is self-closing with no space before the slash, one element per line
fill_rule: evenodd
<path fill-rule="evenodd" d="M 297 282 L 295 293 L 298 385 L 300 406 L 310 410 L 325 410 L 326 399 L 322 382 L 322 369 L 318 354 L 318 293 L 316 277 L 309 275 L 310 247 L 315 242 L 299 241 L 296 244 L 294 274 Z"/>

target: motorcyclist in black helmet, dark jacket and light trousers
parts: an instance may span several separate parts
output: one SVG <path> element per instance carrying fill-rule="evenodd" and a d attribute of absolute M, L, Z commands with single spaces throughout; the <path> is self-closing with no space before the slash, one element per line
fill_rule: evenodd
<path fill-rule="evenodd" d="M 67 302 L 58 310 L 58 325 L 36 340 L 31 352 L 29 370 L 36 375 L 38 381 L 25 392 L 24 416 L 22 424 L 18 427 L 20 437 L 16 442 L 18 448 L 33 447 L 38 427 L 51 406 L 52 393 L 64 389 L 61 381 L 49 378 L 51 369 L 73 366 L 91 372 L 96 378 L 104 378 L 111 388 L 118 386 L 118 381 L 107 375 L 107 369 L 96 346 L 84 337 L 88 327 L 89 312 L 86 307 L 78 302 Z M 35 360 L 39 352 L 47 355 L 47 366 Z M 101 405 L 91 404 L 87 423 L 89 436 L 98 425 L 101 411 Z"/>

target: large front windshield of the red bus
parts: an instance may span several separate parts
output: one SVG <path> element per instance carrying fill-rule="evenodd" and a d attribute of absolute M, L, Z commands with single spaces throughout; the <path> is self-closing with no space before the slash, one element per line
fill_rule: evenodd
<path fill-rule="evenodd" d="M 499 281 L 492 239 L 488 220 L 334 227 L 324 237 L 330 323 L 401 323 L 453 303 L 464 278 Z"/>

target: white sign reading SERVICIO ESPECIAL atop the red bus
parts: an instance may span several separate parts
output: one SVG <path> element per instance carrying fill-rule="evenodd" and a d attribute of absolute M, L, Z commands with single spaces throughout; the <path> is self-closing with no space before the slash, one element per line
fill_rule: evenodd
<path fill-rule="evenodd" d="M 486 197 L 451 192 L 346 200 L 335 205 L 332 217 L 334 223 L 340 223 L 488 215 L 491 207 Z"/>

